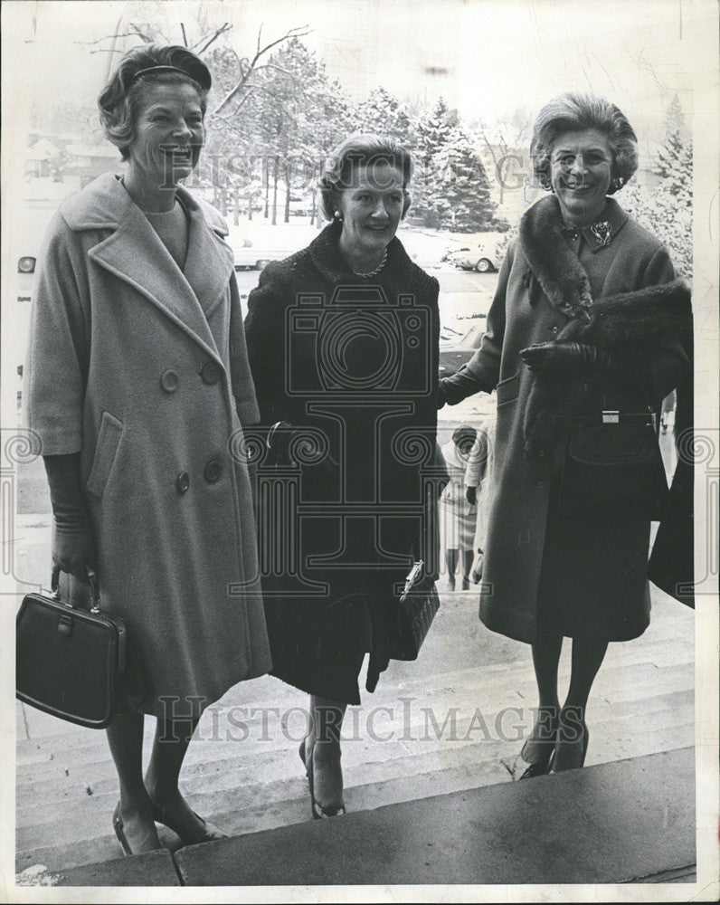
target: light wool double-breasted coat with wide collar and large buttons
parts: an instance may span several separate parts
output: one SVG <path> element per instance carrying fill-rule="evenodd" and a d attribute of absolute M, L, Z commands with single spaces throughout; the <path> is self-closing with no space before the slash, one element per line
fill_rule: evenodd
<path fill-rule="evenodd" d="M 137 707 L 199 713 L 270 670 L 242 424 L 258 421 L 232 250 L 182 187 L 181 271 L 116 176 L 55 215 L 40 258 L 27 423 L 81 453 L 102 608 L 146 672 Z M 77 593 L 72 587 L 71 593 Z"/>

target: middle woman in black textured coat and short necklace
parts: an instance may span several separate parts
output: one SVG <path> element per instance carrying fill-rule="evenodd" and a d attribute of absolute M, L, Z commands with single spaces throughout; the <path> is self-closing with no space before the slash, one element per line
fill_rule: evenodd
<path fill-rule="evenodd" d="M 437 576 L 437 491 L 426 491 L 439 284 L 395 237 L 411 176 L 405 148 L 347 138 L 320 181 L 331 222 L 307 248 L 271 263 L 248 299 L 272 465 L 259 470 L 258 507 L 272 674 L 310 694 L 300 757 L 315 817 L 345 811 L 340 727 L 347 704 L 360 703 L 365 653 L 374 691 L 413 559 L 422 559 L 429 588 Z M 283 488 L 297 493 L 298 511 L 280 529 Z"/>

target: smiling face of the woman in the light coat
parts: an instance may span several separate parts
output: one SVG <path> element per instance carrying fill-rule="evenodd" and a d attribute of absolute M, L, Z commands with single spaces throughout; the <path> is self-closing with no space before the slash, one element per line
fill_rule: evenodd
<path fill-rule="evenodd" d="M 170 188 L 189 176 L 205 140 L 197 91 L 184 82 L 150 84 L 137 112 L 129 170 L 148 188 Z"/>

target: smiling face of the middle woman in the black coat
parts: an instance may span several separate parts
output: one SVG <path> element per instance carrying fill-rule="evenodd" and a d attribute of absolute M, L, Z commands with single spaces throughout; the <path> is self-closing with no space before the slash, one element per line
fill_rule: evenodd
<path fill-rule="evenodd" d="M 384 252 L 403 216 L 403 172 L 386 161 L 356 167 L 338 202 L 342 243 L 359 255 Z"/>

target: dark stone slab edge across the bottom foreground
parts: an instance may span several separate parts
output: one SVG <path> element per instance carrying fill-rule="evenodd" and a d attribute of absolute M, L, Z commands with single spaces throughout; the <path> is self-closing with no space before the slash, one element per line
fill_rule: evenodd
<path fill-rule="evenodd" d="M 692 883 L 693 748 L 45 875 L 60 886 Z M 688 887 L 688 889 L 690 889 Z M 638 896 L 639 900 L 644 900 Z M 678 895 L 678 899 L 682 899 Z"/>

